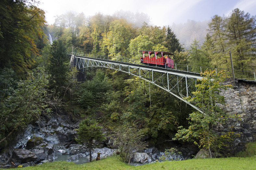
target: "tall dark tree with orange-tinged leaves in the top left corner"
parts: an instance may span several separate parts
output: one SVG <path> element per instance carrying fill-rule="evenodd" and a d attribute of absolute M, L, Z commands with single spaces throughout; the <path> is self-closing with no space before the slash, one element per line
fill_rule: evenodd
<path fill-rule="evenodd" d="M 2 0 L 0 4 L 0 67 L 28 72 L 44 39 L 45 12 L 28 0 Z"/>

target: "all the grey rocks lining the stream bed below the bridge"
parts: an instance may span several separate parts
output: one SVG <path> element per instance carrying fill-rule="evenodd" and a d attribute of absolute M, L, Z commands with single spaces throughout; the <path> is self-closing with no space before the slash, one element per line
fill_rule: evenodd
<path fill-rule="evenodd" d="M 89 160 L 89 149 L 74 140 L 77 138 L 78 122 L 67 121 L 64 117 L 52 115 L 43 123 L 38 122 L 38 124 L 29 124 L 24 133 L 18 134 L 17 143 L 0 156 L 0 168 L 14 166 L 11 162 L 16 167 L 18 165 L 32 166 L 58 160 L 61 156 L 65 158 L 64 160 L 75 163 L 86 163 Z M 98 143 L 101 144 L 100 148 L 93 148 L 92 160 L 96 159 L 98 153 L 101 159 L 116 154 L 117 148 L 111 148 L 114 142 L 111 136 L 113 132 L 108 130 L 103 130 L 103 132 L 107 139 Z M 27 152 L 26 157 L 21 156 L 22 152 Z M 154 147 L 142 153 L 136 153 L 131 162 L 150 163 L 159 159 L 161 154 L 162 152 Z"/>

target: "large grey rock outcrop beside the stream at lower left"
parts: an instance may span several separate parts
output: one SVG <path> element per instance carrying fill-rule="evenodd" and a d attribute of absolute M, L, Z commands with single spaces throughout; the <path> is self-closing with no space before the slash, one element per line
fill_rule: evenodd
<path fill-rule="evenodd" d="M 24 132 L 17 135 L 16 143 L 0 154 L 0 168 L 52 162 L 59 152 L 58 146 L 65 148 L 65 145 L 74 141 L 75 128 L 78 128 L 78 123 L 72 122 L 67 115 L 52 115 L 42 122 L 29 124 Z M 71 150 L 74 147 L 70 146 L 67 149 Z"/>

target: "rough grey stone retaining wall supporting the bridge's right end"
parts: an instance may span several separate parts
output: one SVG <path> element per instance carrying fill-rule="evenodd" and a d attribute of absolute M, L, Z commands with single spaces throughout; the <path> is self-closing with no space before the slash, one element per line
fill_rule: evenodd
<path fill-rule="evenodd" d="M 224 84 L 231 84 L 228 80 Z M 218 131 L 231 129 L 241 136 L 234 142 L 238 150 L 242 150 L 245 143 L 254 142 L 256 139 L 256 83 L 239 81 L 237 88 L 229 88 L 220 95 L 225 97 L 226 113 L 237 115 L 239 120 L 229 120 L 227 126 L 219 126 Z"/>

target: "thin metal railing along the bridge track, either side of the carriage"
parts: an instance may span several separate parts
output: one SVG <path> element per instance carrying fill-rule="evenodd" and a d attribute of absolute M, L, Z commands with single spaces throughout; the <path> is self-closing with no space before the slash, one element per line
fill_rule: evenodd
<path fill-rule="evenodd" d="M 80 56 L 80 57 L 91 57 L 91 58 L 112 60 L 112 61 L 118 61 L 118 62 L 141 64 L 140 59 L 133 59 L 133 58 L 113 57 L 113 56 L 85 54 L 85 53 L 76 53 L 76 52 L 73 52 L 73 53 L 67 52 L 67 54 Z M 202 66 L 178 64 L 178 63 L 174 63 L 174 69 L 175 70 L 184 70 L 184 71 L 188 71 L 188 72 L 197 72 L 197 73 L 204 72 L 205 70 L 215 70 L 216 73 L 218 73 L 219 71 L 224 71 L 227 76 L 232 77 L 231 69 L 202 67 Z M 234 70 L 234 74 L 237 79 L 254 80 L 254 82 L 256 82 L 256 72 Z"/>

